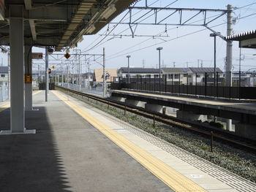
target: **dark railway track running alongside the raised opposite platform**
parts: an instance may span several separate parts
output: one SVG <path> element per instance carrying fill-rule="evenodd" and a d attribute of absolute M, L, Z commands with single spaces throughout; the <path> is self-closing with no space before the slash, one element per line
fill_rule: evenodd
<path fill-rule="evenodd" d="M 126 112 L 132 112 L 136 115 L 140 115 L 145 118 L 152 119 L 154 120 L 154 122 L 159 121 L 161 123 L 165 123 L 170 126 L 183 128 L 187 131 L 192 131 L 195 134 L 200 134 L 205 137 L 208 137 L 209 139 L 211 139 L 211 137 L 214 136 L 214 140 L 225 142 L 229 145 L 236 145 L 236 147 L 239 147 L 243 150 L 248 150 L 253 153 L 256 153 L 255 141 L 238 137 L 237 135 L 230 134 L 227 131 L 217 130 L 217 128 L 206 126 L 203 123 L 195 123 L 191 121 L 181 120 L 178 118 L 171 117 L 169 115 L 163 115 L 158 112 L 151 112 L 140 107 L 134 107 L 131 105 L 124 104 L 122 102 L 113 101 L 110 99 L 104 99 L 99 96 L 94 96 L 88 93 L 82 93 L 80 91 L 74 91 L 72 89 L 63 88 L 57 85 L 56 85 L 56 88 L 59 90 L 67 91 L 69 93 L 77 94 L 78 96 L 85 96 L 87 99 L 94 99 L 97 102 L 108 104 L 108 106 L 117 107 L 121 110 L 124 110 L 124 115 Z"/>

